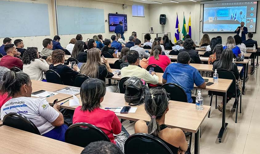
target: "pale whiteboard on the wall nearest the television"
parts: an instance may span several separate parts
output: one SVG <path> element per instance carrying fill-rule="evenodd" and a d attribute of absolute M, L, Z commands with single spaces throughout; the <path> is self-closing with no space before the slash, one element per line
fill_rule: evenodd
<path fill-rule="evenodd" d="M 59 35 L 105 33 L 103 9 L 58 5 L 57 15 Z"/>

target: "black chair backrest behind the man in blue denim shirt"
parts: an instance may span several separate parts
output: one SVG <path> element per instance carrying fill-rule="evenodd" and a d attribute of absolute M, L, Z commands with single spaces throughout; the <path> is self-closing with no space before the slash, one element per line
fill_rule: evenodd
<path fill-rule="evenodd" d="M 178 84 L 165 83 L 162 85 L 162 88 L 166 90 L 170 96 L 170 100 L 188 102 L 186 92 Z"/>

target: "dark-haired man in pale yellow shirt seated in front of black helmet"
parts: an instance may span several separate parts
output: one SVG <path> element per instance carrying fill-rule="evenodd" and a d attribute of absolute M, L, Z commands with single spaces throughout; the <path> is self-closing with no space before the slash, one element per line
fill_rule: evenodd
<path fill-rule="evenodd" d="M 135 50 L 128 51 L 126 55 L 127 62 L 129 65 L 121 69 L 121 78 L 136 76 L 140 79 L 145 80 L 147 83 L 158 84 L 159 77 L 154 71 L 150 74 L 146 69 L 139 67 L 139 54 Z"/>

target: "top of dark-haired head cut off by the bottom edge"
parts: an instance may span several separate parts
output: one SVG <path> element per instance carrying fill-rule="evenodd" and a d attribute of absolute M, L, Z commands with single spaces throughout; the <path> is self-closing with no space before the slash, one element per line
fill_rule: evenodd
<path fill-rule="evenodd" d="M 80 154 L 123 154 L 113 143 L 107 141 L 91 142 Z"/>

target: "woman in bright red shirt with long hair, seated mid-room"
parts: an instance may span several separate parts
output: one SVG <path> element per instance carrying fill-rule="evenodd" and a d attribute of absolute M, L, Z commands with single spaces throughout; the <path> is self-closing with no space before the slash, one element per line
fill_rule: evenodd
<path fill-rule="evenodd" d="M 149 58 L 148 65 L 156 64 L 162 68 L 164 71 L 168 65 L 170 65 L 171 60 L 166 55 L 162 54 L 162 48 L 159 45 L 156 45 L 154 47 L 154 53 L 153 56 Z"/>

